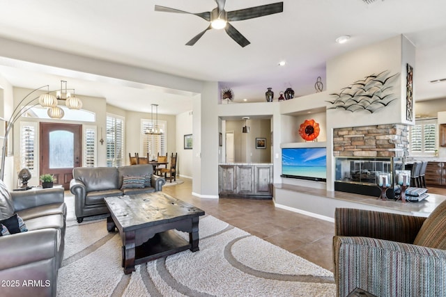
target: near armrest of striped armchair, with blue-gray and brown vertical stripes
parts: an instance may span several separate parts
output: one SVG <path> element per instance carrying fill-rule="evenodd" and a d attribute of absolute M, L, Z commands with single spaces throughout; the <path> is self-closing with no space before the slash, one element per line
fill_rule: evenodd
<path fill-rule="evenodd" d="M 368 237 L 334 236 L 337 296 L 443 296 L 446 250 Z"/>

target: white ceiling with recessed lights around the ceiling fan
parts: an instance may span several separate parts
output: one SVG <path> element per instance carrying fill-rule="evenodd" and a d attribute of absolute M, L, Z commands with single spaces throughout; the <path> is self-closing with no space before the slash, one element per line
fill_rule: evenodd
<path fill-rule="evenodd" d="M 274 2 L 226 0 L 225 10 Z M 186 46 L 208 23 L 194 15 L 154 11 L 157 4 L 201 13 L 216 7 L 213 0 L 0 0 L 0 37 L 191 79 L 220 81 L 233 89 L 236 102 L 258 102 L 265 100 L 268 87 L 276 99 L 279 90 L 289 86 L 296 97 L 314 93 L 317 77 L 325 83 L 328 59 L 403 34 L 417 47 L 415 99 L 446 97 L 446 82 L 429 83 L 446 78 L 446 1 L 283 2 L 283 13 L 231 23 L 251 42 L 244 48 L 222 30 L 207 31 L 196 45 Z M 340 35 L 351 35 L 351 40 L 339 45 L 334 40 Z M 282 60 L 287 64 L 279 67 Z M 105 97 L 109 104 L 127 110 L 149 112 L 147 101 L 160 104 L 160 113 L 192 109 L 191 93 L 16 62 L 0 58 L 0 74 L 14 86 L 50 84 L 54 89 L 64 79 L 77 95 Z"/>

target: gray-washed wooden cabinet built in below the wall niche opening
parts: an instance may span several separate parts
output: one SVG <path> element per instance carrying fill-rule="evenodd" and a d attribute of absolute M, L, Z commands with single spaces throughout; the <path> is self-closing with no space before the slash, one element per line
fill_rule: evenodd
<path fill-rule="evenodd" d="M 272 164 L 220 164 L 218 193 L 228 198 L 272 199 Z"/>

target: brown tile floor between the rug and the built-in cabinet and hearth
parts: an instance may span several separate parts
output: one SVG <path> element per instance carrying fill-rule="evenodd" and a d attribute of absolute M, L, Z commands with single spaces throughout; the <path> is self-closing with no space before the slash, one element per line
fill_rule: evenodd
<path fill-rule="evenodd" d="M 272 200 L 197 198 L 192 195 L 192 181 L 182 180 L 183 184 L 162 191 L 332 271 L 333 223 L 275 208 Z M 446 188 L 429 187 L 429 193 L 446 195 Z M 66 191 L 67 196 L 72 194 Z M 74 209 L 70 211 L 74 216 Z"/>

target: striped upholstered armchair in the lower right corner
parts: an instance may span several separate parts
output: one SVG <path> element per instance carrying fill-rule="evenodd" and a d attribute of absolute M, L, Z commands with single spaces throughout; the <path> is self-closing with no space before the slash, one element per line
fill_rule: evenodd
<path fill-rule="evenodd" d="M 336 209 L 337 296 L 355 288 L 375 296 L 445 296 L 446 201 L 428 218 Z"/>

